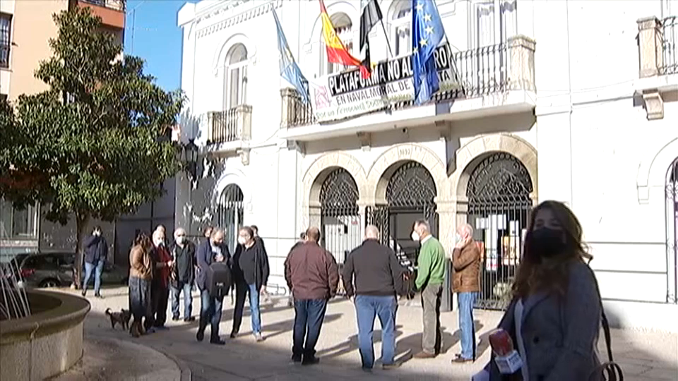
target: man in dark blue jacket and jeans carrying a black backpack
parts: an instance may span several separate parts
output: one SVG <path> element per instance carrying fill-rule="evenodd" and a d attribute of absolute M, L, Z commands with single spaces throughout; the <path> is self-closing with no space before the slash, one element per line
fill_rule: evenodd
<path fill-rule="evenodd" d="M 230 262 L 231 254 L 228 247 L 224 245 L 224 231 L 223 229 L 215 229 L 212 231 L 210 238 L 198 246 L 198 253 L 196 253 L 198 260 L 198 278 L 196 285 L 200 290 L 200 324 L 198 325 L 198 333 L 196 339 L 203 341 L 205 338 L 205 328 L 207 323 L 211 323 L 210 327 L 210 343 L 216 345 L 226 344 L 219 337 L 219 323 L 221 322 L 221 308 L 224 301 L 223 296 L 210 295 L 207 284 L 208 268 L 213 262 Z"/>

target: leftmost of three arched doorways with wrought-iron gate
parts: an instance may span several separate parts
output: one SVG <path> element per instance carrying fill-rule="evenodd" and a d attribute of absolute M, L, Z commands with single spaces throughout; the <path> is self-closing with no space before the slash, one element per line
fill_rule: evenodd
<path fill-rule="evenodd" d="M 320 190 L 321 243 L 343 263 L 361 241 L 358 186 L 346 169 L 328 174 Z"/>

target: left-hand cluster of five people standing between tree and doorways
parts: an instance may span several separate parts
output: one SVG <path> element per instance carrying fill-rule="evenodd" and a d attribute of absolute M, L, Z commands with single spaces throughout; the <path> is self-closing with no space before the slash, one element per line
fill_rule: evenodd
<path fill-rule="evenodd" d="M 210 325 L 210 343 L 225 344 L 219 336 L 223 295 L 210 294 L 207 274 L 213 263 L 226 262 L 232 272 L 231 288 L 236 294 L 230 337 L 237 337 L 245 299 L 249 296 L 252 332 L 257 341 L 263 340 L 259 296 L 266 293 L 270 270 L 266 246 L 256 231 L 256 226 L 239 229 L 238 245 L 233 254 L 224 243 L 222 229 L 208 227 L 205 240 L 198 246 L 189 241 L 182 228 L 174 231 L 174 241 L 169 247 L 162 225 L 153 231 L 151 237 L 139 234 L 129 255 L 129 307 L 133 316 L 130 334 L 138 337 L 165 327 L 170 291 L 172 320 L 180 320 L 179 300 L 183 294 L 184 322 L 195 321 L 191 295 L 195 285 L 201 298 L 196 339 L 202 341 L 206 327 Z"/>

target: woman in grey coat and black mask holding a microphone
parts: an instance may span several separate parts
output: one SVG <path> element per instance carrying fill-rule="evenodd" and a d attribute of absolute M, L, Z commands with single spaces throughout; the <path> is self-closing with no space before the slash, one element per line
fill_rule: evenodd
<path fill-rule="evenodd" d="M 499 322 L 511 335 L 523 366 L 513 375 L 502 375 L 493 353 L 473 380 L 600 380 L 593 374 L 600 366 L 596 347 L 602 304 L 581 235 L 581 224 L 561 202 L 535 207 L 513 301 Z"/>

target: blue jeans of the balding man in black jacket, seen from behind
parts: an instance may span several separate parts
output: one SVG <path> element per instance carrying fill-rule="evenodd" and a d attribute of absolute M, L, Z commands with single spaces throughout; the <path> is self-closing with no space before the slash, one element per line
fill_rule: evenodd
<path fill-rule="evenodd" d="M 396 356 L 396 296 L 358 295 L 355 297 L 355 314 L 358 320 L 358 348 L 362 368 L 374 365 L 374 317 L 381 323 L 381 363 L 389 365 Z"/>

